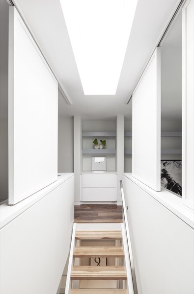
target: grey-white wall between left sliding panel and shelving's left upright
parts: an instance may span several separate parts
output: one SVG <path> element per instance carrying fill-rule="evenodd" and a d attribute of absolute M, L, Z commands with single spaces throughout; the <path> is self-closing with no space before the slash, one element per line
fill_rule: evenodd
<path fill-rule="evenodd" d="M 58 172 L 73 172 L 73 117 L 58 118 Z"/>

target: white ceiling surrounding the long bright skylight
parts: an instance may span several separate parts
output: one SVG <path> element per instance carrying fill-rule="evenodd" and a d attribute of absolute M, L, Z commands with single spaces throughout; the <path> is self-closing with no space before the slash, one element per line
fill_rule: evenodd
<path fill-rule="evenodd" d="M 130 115 L 126 101 L 158 44 L 177 0 L 139 0 L 114 96 L 84 96 L 59 0 L 14 0 L 72 105 L 59 93 L 59 116 Z"/>

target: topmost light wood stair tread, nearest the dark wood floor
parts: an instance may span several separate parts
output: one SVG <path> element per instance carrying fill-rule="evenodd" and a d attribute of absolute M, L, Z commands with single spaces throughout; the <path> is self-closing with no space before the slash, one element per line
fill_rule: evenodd
<path fill-rule="evenodd" d="M 122 239 L 121 231 L 77 231 L 76 240 Z"/>

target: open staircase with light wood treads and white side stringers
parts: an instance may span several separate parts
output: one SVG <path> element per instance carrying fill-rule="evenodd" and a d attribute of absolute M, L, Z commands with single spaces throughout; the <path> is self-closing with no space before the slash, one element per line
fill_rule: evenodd
<path fill-rule="evenodd" d="M 132 294 L 123 226 L 74 224 L 65 294 Z"/>

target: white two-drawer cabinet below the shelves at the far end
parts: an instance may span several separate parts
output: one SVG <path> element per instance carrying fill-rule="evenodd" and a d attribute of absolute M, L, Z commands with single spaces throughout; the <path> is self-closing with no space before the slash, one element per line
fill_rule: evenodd
<path fill-rule="evenodd" d="M 117 174 L 82 174 L 82 201 L 116 201 Z"/>

